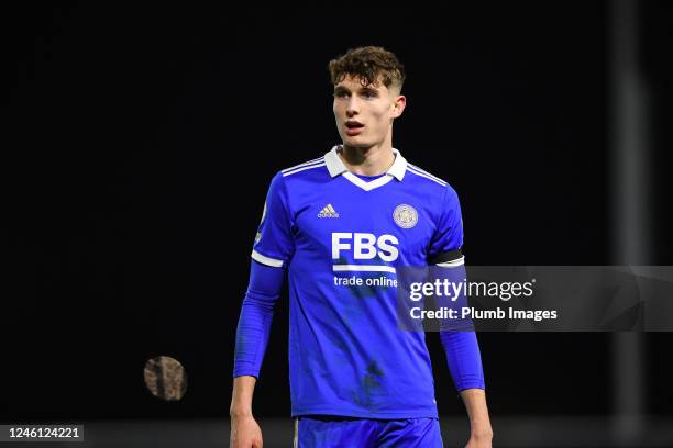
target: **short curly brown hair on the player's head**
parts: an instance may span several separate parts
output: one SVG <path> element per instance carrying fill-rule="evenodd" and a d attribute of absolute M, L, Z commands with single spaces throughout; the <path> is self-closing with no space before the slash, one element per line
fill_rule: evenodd
<path fill-rule="evenodd" d="M 351 75 L 360 78 L 363 86 L 376 85 L 380 77 L 384 86 L 394 86 L 401 91 L 405 83 L 405 66 L 397 56 L 379 46 L 351 48 L 345 55 L 330 60 L 330 78 L 338 85 Z"/>

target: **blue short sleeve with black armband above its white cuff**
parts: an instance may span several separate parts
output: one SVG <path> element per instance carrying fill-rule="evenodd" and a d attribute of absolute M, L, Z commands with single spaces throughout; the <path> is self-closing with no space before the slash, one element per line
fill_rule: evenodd
<path fill-rule="evenodd" d="M 463 265 L 463 219 L 457 193 L 451 186 L 444 189 L 437 229 L 428 250 L 428 264 L 444 267 Z"/>

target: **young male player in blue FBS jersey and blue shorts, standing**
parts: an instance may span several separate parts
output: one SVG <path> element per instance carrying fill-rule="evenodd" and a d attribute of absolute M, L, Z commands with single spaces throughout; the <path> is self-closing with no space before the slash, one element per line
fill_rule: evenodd
<path fill-rule="evenodd" d="M 262 446 L 253 389 L 287 269 L 295 447 L 441 447 L 426 334 L 398 328 L 395 279 L 427 265 L 462 276 L 457 195 L 393 148 L 406 104 L 394 54 L 351 49 L 329 69 L 343 143 L 272 180 L 236 333 L 231 446 Z M 440 338 L 470 416 L 467 447 L 490 447 L 476 336 Z"/>

